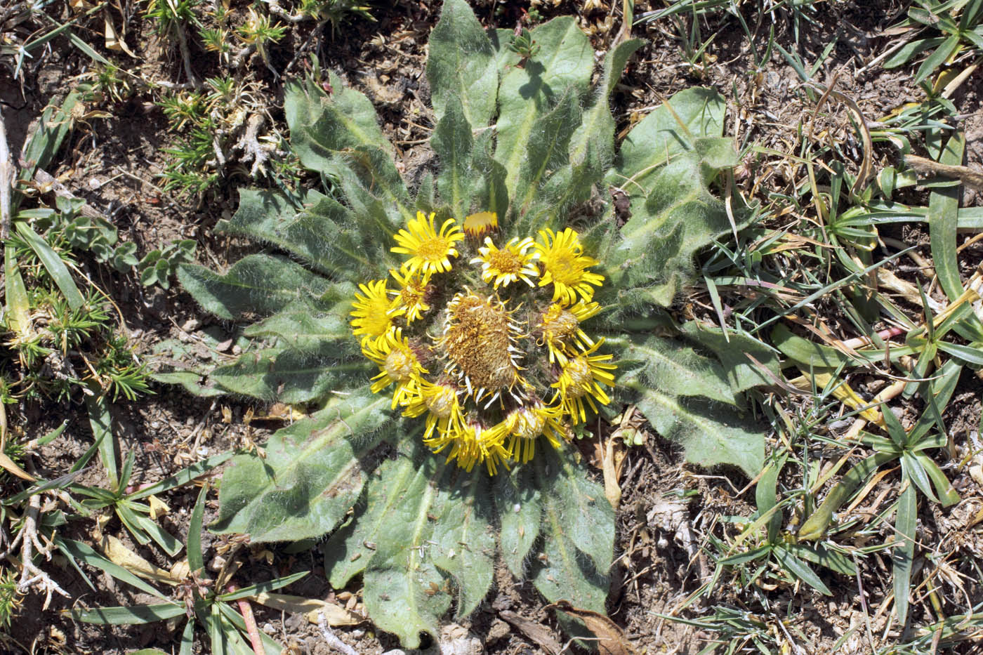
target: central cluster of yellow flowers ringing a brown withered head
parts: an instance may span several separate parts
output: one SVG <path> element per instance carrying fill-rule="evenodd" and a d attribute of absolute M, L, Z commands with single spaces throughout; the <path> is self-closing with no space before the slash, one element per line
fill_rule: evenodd
<path fill-rule="evenodd" d="M 418 213 L 394 237 L 405 256 L 387 280 L 360 285 L 351 312 L 372 390 L 404 416 L 426 416 L 424 443 L 471 470 L 529 461 L 540 438 L 560 447 L 587 408 L 610 398 L 611 355 L 581 325 L 600 312 L 604 276 L 571 228 L 500 238 L 497 216 L 462 226 Z"/>

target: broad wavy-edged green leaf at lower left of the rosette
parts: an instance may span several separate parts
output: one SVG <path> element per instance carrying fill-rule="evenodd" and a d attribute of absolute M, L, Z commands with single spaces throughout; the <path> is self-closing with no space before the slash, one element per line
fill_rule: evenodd
<path fill-rule="evenodd" d="M 264 458 L 236 455 L 222 478 L 211 529 L 247 533 L 254 543 L 319 537 L 333 529 L 362 491 L 362 457 L 390 420 L 388 404 L 361 388 L 278 430 Z"/>

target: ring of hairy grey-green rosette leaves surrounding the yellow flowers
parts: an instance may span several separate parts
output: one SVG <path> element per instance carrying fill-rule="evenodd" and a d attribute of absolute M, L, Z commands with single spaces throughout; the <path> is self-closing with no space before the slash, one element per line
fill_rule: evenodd
<path fill-rule="evenodd" d="M 418 211 L 435 212 L 438 225 L 494 211 L 501 243 L 574 227 L 606 278 L 594 298 L 603 310 L 585 327 L 614 355 L 608 408 L 636 404 L 704 465 L 754 476 L 764 459 L 761 434 L 737 410 L 740 391 L 768 382 L 744 353 L 772 368 L 775 357 L 739 335 L 676 327 L 663 309 L 693 276 L 696 251 L 731 230 L 708 189 L 736 163 L 723 138 L 723 98 L 708 89 L 675 94 L 671 110 L 647 116 L 618 151 L 608 96 L 641 42 L 608 52 L 592 85 L 595 53 L 574 19 L 531 36 L 538 48 L 522 59 L 508 30 L 486 32 L 463 0 L 444 3 L 427 65 L 439 167 L 413 189 L 362 93 L 318 71 L 288 86 L 292 147 L 325 190 L 243 191 L 219 229 L 270 252 L 224 274 L 179 270 L 207 311 L 263 318 L 243 330 L 246 351 L 206 371 L 203 387 L 189 372 L 167 379 L 317 408 L 277 432 L 264 457 L 233 460 L 212 528 L 255 542 L 334 531 L 324 545 L 331 584 L 362 573 L 371 618 L 408 647 L 422 631 L 435 634 L 451 606 L 458 616 L 475 610 L 496 557 L 549 601 L 604 612 L 614 544 L 614 512 L 576 448 L 541 447 L 495 476 L 468 473 L 421 444 L 422 420 L 372 392 L 378 367 L 352 334 L 352 299 L 359 283 L 399 268 L 393 235 Z M 611 187 L 630 198 L 623 224 Z"/>

